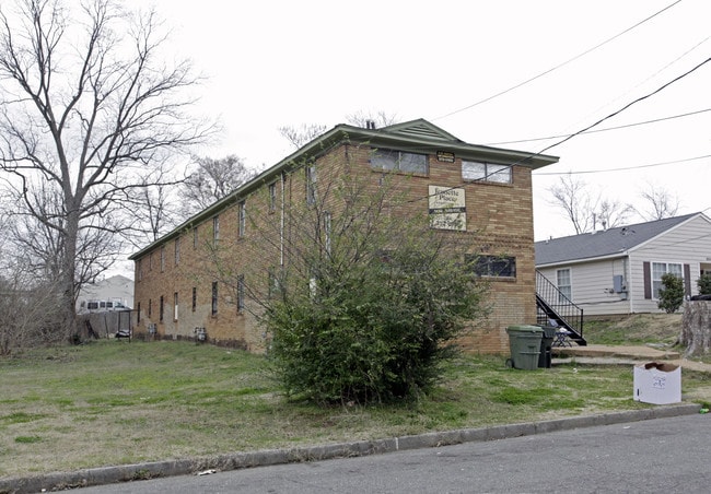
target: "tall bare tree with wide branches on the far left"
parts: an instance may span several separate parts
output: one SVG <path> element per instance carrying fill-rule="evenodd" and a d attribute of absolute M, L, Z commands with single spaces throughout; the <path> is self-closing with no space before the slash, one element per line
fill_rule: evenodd
<path fill-rule="evenodd" d="M 159 59 L 166 37 L 154 12 L 129 14 L 116 0 L 19 0 L 0 10 L 0 169 L 18 200 L 61 242 L 61 328 L 75 331 L 81 239 L 113 234 L 105 220 L 162 152 L 201 142 L 211 127 L 189 118 L 187 62 Z M 11 20 L 12 19 L 12 20 Z M 38 208 L 34 190 L 57 193 Z M 88 242 L 91 245 L 91 242 Z M 91 256 L 89 256 L 91 258 Z M 86 258 L 85 258 L 86 259 Z"/>

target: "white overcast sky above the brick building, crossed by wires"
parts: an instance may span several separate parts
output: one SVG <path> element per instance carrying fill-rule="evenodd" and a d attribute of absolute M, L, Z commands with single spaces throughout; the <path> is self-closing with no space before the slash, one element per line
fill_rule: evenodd
<path fill-rule="evenodd" d="M 201 110 L 224 128 L 202 154 L 263 168 L 293 151 L 280 126 L 331 128 L 383 110 L 469 143 L 560 156 L 534 173 L 536 239 L 574 233 L 547 200 L 569 172 L 639 208 L 652 186 L 678 196 L 679 214 L 711 208 L 711 62 L 594 130 L 662 121 L 550 149 L 562 138 L 522 142 L 580 131 L 711 57 L 708 0 L 154 4 L 173 28 L 171 48 L 208 78 Z"/>

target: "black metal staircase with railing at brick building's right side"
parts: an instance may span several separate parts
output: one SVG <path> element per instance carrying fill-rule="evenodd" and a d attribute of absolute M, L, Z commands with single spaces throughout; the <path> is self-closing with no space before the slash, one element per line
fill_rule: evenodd
<path fill-rule="evenodd" d="M 536 270 L 536 308 L 538 325 L 564 328 L 570 333 L 568 340 L 581 346 L 587 345 L 587 341 L 583 338 L 583 309 L 573 304 L 538 270 Z"/>

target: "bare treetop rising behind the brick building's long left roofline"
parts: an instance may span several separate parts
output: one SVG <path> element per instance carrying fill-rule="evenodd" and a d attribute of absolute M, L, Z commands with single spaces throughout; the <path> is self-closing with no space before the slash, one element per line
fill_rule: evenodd
<path fill-rule="evenodd" d="M 197 170 L 182 185 L 183 216 L 206 209 L 255 176 L 256 172 L 248 169 L 234 154 L 197 158 Z"/>

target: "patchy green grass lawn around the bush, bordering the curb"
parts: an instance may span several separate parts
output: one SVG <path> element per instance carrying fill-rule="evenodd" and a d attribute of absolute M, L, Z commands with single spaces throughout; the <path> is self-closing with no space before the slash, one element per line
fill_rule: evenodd
<path fill-rule="evenodd" d="M 685 393 L 711 387 L 683 379 Z M 648 407 L 632 400 L 630 366 L 466 356 L 417 402 L 325 408 L 287 400 L 258 355 L 102 340 L 0 358 L 0 478 Z"/>

